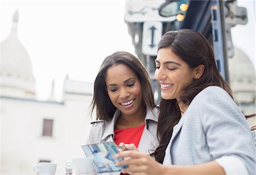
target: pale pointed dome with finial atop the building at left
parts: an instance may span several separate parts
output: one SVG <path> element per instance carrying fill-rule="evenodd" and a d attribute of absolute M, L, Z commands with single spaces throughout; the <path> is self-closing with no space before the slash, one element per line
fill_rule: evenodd
<path fill-rule="evenodd" d="M 9 37 L 1 42 L 1 96 L 20 94 L 19 97 L 24 97 L 26 94 L 35 95 L 35 78 L 31 59 L 26 48 L 18 39 L 17 24 L 18 11 L 14 14 L 13 28 Z M 10 89 L 19 91 L 19 93 L 11 93 L 9 92 Z"/>

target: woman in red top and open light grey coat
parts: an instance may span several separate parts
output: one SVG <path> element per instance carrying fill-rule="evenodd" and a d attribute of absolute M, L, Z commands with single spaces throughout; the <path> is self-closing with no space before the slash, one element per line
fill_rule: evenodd
<path fill-rule="evenodd" d="M 139 151 L 154 155 L 158 109 L 150 78 L 138 58 L 115 52 L 104 59 L 94 81 L 91 106 L 97 121 L 92 122 L 89 144 L 133 143 Z"/>

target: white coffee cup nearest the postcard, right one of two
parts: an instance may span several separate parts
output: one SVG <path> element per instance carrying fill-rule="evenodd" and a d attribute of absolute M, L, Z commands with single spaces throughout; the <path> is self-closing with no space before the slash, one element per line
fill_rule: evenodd
<path fill-rule="evenodd" d="M 74 158 L 72 168 L 75 174 L 90 174 L 93 172 L 92 163 L 92 157 Z"/>

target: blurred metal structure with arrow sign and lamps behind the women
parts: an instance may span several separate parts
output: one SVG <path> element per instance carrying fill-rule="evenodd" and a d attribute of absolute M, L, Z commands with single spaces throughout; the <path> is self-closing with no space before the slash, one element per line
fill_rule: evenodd
<path fill-rule="evenodd" d="M 188 8 L 183 10 L 181 5 L 187 5 Z M 178 15 L 182 18 L 178 19 Z M 135 53 L 151 76 L 155 101 L 158 104 L 160 88 L 154 78 L 154 59 L 160 36 L 167 31 L 182 28 L 202 33 L 213 46 L 218 70 L 229 82 L 228 57 L 233 56 L 230 28 L 236 24 L 246 24 L 247 12 L 246 8 L 237 6 L 236 0 L 130 0 L 126 1 L 125 22 Z"/>

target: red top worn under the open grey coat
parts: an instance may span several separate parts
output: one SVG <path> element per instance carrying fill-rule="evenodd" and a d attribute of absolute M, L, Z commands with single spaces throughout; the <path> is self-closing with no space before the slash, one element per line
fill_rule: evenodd
<path fill-rule="evenodd" d="M 141 135 L 143 133 L 144 127 L 145 124 L 138 127 L 115 130 L 115 144 L 119 145 L 119 143 L 121 142 L 126 144 L 134 143 L 135 146 L 138 148 L 139 140 L 141 140 Z M 125 174 L 121 173 L 120 175 Z"/>

